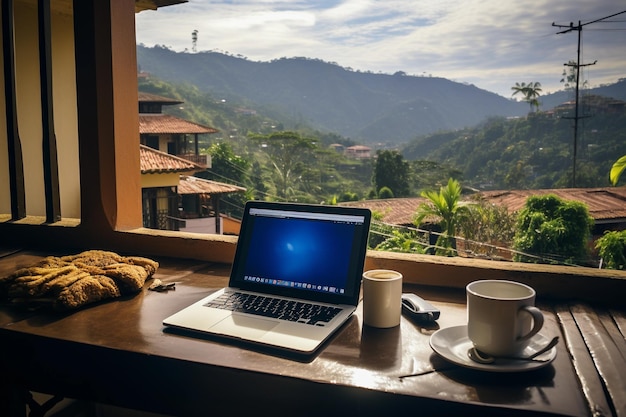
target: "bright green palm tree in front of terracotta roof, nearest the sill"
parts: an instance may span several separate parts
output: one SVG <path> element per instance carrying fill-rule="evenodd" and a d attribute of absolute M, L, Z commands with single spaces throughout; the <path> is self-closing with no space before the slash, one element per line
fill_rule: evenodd
<path fill-rule="evenodd" d="M 459 221 L 470 210 L 469 204 L 460 201 L 461 185 L 450 178 L 448 184 L 436 191 L 422 191 L 422 197 L 429 201 L 420 204 L 414 220 L 416 227 L 427 217 L 439 219 L 443 233 L 437 239 L 438 255 L 453 255 L 456 252 L 456 229 Z"/>

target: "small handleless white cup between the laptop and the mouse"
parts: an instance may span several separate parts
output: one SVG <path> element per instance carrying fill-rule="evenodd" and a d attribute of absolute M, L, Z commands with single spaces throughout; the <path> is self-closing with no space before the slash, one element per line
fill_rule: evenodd
<path fill-rule="evenodd" d="M 390 269 L 363 273 L 363 323 L 389 328 L 400 324 L 402 313 L 402 274 Z"/>

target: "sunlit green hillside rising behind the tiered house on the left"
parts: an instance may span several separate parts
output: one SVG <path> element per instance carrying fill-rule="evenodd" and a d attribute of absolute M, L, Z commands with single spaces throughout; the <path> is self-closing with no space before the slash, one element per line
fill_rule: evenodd
<path fill-rule="evenodd" d="M 354 145 L 337 134 L 319 132 L 304 124 L 286 128 L 282 121 L 265 115 L 263 108 L 252 111 L 244 103 L 217 99 L 190 84 L 142 77 L 139 91 L 179 99 L 184 103 L 164 106 L 163 112 L 219 130 L 199 138 L 201 153 L 211 153 L 213 160 L 212 169 L 202 176 L 248 189 L 245 196 L 222 197 L 225 204 L 233 200 L 235 210 L 247 198 L 320 203 L 360 199 L 370 192 L 372 161 L 347 158 L 331 149 L 330 144 Z M 294 130 L 312 144 L 296 155 L 299 159 L 291 173 L 288 195 L 278 185 L 276 169 L 267 152 L 259 141 L 252 139 L 284 130 Z"/>

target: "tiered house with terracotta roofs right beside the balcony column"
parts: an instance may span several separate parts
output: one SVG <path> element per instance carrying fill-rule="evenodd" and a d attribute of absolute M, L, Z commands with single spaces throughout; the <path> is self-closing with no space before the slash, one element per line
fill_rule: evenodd
<path fill-rule="evenodd" d="M 220 196 L 245 188 L 196 178 L 211 166 L 199 135 L 218 130 L 162 113 L 180 100 L 139 92 L 143 225 L 151 229 L 221 234 Z"/>

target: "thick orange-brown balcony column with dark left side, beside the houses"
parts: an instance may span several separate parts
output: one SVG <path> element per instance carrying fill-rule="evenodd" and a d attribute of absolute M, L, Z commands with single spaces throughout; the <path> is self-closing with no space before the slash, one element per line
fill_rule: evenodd
<path fill-rule="evenodd" d="M 135 1 L 74 0 L 74 36 L 81 225 L 141 227 Z"/>

